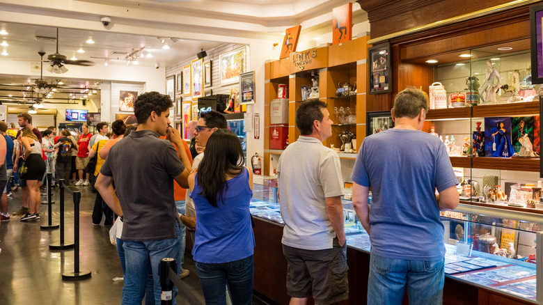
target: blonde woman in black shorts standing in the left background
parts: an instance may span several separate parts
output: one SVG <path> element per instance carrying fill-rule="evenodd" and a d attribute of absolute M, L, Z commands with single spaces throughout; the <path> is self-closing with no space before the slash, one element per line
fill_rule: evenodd
<path fill-rule="evenodd" d="M 21 221 L 40 219 L 40 185 L 45 174 L 45 161 L 42 158 L 42 145 L 29 127 L 23 127 L 17 139 L 22 146 L 22 159 L 26 162 L 24 179 L 29 192 L 29 212 Z"/>

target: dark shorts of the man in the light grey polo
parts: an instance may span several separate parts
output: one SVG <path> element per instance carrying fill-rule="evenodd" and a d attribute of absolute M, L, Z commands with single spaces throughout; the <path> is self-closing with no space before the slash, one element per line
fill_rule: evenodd
<path fill-rule="evenodd" d="M 290 297 L 313 295 L 315 304 L 332 304 L 349 298 L 347 279 L 347 244 L 340 247 L 333 239 L 333 248 L 306 250 L 283 244 L 288 262 L 287 292 Z"/>

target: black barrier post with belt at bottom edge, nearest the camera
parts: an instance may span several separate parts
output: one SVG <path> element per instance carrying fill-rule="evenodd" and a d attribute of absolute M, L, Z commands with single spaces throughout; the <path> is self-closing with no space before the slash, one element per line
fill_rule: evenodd
<path fill-rule="evenodd" d="M 177 262 L 173 258 L 162 258 L 159 263 L 160 294 L 161 305 L 173 304 L 173 286 L 175 285 L 179 293 L 187 299 L 191 305 L 202 305 L 202 303 L 194 296 L 191 290 L 179 279 L 179 274 L 175 272 Z"/>

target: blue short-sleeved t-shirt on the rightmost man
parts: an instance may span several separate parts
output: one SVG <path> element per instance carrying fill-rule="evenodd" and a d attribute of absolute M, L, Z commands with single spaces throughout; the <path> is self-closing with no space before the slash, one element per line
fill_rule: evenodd
<path fill-rule="evenodd" d="M 386 258 L 439 260 L 445 254 L 435 189 L 457 185 L 445 146 L 418 130 L 364 139 L 351 176 L 371 187 L 372 251 Z"/>

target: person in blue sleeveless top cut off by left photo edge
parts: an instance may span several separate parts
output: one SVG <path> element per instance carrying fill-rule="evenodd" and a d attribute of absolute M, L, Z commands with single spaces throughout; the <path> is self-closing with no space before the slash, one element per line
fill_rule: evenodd
<path fill-rule="evenodd" d="M 8 124 L 6 122 L 1 121 L 0 122 L 0 134 L 3 136 L 4 141 L 1 141 L 0 139 L 0 154 L 5 149 L 6 152 L 4 155 L 5 159 L 3 164 L 0 166 L 0 187 L 2 184 L 2 178 L 3 178 L 3 168 L 6 168 L 6 186 L 4 187 L 4 191 L 2 193 L 2 196 L 0 198 L 0 219 L 1 221 L 10 221 L 10 213 L 8 212 L 8 189 L 9 187 L 9 177 L 10 177 L 10 171 L 13 172 L 13 140 L 11 139 L 8 134 L 6 134 L 6 131 L 8 130 Z M 4 148 L 5 146 L 5 148 Z M 0 162 L 2 157 L 0 156 Z"/>

